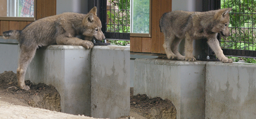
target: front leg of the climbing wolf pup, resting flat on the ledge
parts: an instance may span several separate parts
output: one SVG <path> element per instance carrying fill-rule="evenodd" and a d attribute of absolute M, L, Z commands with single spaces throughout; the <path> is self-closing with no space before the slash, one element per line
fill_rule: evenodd
<path fill-rule="evenodd" d="M 65 37 L 64 35 L 58 36 L 56 38 L 58 45 L 81 45 L 86 49 L 92 48 L 93 43 L 88 40 L 82 40 L 76 37 Z"/>

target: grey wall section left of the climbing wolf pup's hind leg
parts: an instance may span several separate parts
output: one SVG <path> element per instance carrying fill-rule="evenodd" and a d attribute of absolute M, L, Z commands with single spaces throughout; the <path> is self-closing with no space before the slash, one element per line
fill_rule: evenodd
<path fill-rule="evenodd" d="M 17 72 L 18 68 L 18 41 L 0 37 L 0 73 L 4 71 Z"/>

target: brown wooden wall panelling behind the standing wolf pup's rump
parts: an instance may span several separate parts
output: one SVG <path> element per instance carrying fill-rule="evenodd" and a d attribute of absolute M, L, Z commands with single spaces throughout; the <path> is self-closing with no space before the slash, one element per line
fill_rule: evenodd
<path fill-rule="evenodd" d="M 164 34 L 160 32 L 159 19 L 165 12 L 171 11 L 171 0 L 152 0 L 151 5 L 151 38 L 130 37 L 130 51 L 140 53 L 165 54 Z"/>

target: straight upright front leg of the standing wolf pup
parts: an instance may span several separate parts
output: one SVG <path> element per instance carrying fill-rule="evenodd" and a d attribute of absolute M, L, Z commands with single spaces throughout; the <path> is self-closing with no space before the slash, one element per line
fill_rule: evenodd
<path fill-rule="evenodd" d="M 186 34 L 185 38 L 185 60 L 186 61 L 195 61 L 196 59 L 193 56 L 193 39 L 190 38 L 189 34 Z"/>

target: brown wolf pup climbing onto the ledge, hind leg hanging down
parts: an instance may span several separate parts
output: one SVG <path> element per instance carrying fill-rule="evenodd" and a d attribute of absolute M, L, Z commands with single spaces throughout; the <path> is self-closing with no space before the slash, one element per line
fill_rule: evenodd
<path fill-rule="evenodd" d="M 29 86 L 25 85 L 24 77 L 38 46 L 82 45 L 89 49 L 92 48 L 93 43 L 88 40 L 93 38 L 104 40 L 101 21 L 96 13 L 96 7 L 93 7 L 88 14 L 62 13 L 36 20 L 22 30 L 3 32 L 4 39 L 18 39 L 21 48 L 17 69 L 18 87 L 29 90 Z M 86 40 L 76 38 L 78 34 L 85 35 Z"/>

